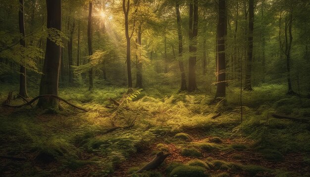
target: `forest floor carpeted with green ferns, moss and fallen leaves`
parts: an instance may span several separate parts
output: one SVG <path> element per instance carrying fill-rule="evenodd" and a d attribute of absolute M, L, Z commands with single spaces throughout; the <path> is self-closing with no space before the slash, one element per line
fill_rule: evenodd
<path fill-rule="evenodd" d="M 0 102 L 16 88 L 1 85 Z M 310 124 L 271 116 L 309 118 L 310 99 L 260 86 L 245 92 L 241 122 L 238 88 L 219 102 L 167 90 L 60 89 L 86 113 L 0 107 L 0 176 L 310 177 Z M 160 151 L 158 169 L 135 174 Z"/>

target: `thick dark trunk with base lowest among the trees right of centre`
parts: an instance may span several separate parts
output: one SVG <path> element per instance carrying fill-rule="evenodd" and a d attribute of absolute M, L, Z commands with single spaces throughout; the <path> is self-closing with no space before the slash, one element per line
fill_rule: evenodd
<path fill-rule="evenodd" d="M 218 2 L 218 26 L 217 26 L 217 88 L 215 97 L 226 96 L 226 61 L 225 61 L 225 38 L 226 38 L 226 0 Z"/>

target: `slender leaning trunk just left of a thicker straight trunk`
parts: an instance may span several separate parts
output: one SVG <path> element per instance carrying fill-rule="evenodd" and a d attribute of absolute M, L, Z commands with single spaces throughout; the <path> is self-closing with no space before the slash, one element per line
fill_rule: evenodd
<path fill-rule="evenodd" d="M 179 68 L 181 72 L 181 88 L 180 91 L 187 90 L 186 86 L 186 75 L 184 70 L 183 63 L 183 37 L 182 37 L 182 23 L 181 23 L 181 14 L 180 14 L 180 5 L 179 2 L 176 1 L 176 16 L 177 16 L 177 24 L 178 24 L 178 43 L 179 43 Z"/>

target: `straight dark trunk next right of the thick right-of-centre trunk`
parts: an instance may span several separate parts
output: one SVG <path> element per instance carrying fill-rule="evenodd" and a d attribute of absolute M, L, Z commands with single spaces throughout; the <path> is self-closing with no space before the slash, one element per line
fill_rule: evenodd
<path fill-rule="evenodd" d="M 246 67 L 245 90 L 252 91 L 251 73 L 253 59 L 253 30 L 254 30 L 254 0 L 249 0 L 249 38 L 248 38 L 248 58 Z"/>

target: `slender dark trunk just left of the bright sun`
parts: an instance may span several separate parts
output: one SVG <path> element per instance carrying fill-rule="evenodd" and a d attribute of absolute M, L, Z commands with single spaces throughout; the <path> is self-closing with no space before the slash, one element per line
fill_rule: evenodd
<path fill-rule="evenodd" d="M 93 11 L 93 1 L 89 1 L 88 27 L 87 27 L 88 54 L 89 54 L 89 56 L 93 55 L 93 47 L 92 47 L 92 11 Z M 88 76 L 89 76 L 89 90 L 92 90 L 94 88 L 93 68 L 91 68 L 89 70 Z"/>

